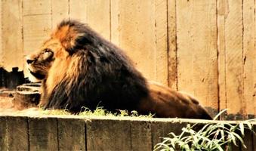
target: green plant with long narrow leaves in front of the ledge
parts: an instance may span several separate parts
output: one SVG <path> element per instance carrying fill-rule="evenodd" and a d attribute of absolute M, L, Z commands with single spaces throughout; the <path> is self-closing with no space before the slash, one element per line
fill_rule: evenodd
<path fill-rule="evenodd" d="M 218 118 L 223 112 L 220 112 L 215 116 L 214 120 Z M 163 137 L 161 143 L 157 143 L 154 150 L 182 150 L 182 151 L 194 151 L 194 150 L 230 150 L 231 145 L 238 146 L 240 143 L 246 148 L 243 141 L 245 136 L 245 128 L 252 131 L 251 120 L 240 122 L 239 124 L 232 125 L 228 122 L 209 123 L 204 125 L 199 131 L 194 130 L 197 124 L 190 125 L 182 128 L 180 135 L 176 135 L 173 132 L 168 134 L 168 137 Z"/>

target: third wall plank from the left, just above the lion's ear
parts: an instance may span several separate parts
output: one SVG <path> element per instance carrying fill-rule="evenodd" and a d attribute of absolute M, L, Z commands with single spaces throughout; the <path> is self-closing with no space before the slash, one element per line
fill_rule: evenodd
<path fill-rule="evenodd" d="M 61 20 L 69 19 L 69 0 L 52 0 L 52 27 L 55 28 Z"/>

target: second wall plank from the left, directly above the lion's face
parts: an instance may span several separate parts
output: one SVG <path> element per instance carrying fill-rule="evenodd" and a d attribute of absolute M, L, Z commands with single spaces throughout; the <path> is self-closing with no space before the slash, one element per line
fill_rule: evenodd
<path fill-rule="evenodd" d="M 24 54 L 36 51 L 51 33 L 51 0 L 23 1 Z"/>

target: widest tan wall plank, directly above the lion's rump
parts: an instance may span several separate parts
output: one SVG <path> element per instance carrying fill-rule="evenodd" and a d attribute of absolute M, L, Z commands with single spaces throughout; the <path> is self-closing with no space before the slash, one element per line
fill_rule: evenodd
<path fill-rule="evenodd" d="M 177 1 L 178 89 L 218 109 L 216 1 Z"/>

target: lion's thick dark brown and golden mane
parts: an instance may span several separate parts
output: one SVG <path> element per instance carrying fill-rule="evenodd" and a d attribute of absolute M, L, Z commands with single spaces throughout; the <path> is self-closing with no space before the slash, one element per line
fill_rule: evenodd
<path fill-rule="evenodd" d="M 48 78 L 42 82 L 45 108 L 66 108 L 72 112 L 79 112 L 81 106 L 132 110 L 149 94 L 146 80 L 128 57 L 85 24 L 63 21 L 52 37 L 60 39 L 64 48 L 57 53 L 67 51 L 68 56 L 51 66 Z M 58 79 L 56 72 L 63 73 L 63 79 Z M 50 78 L 60 82 L 48 85 Z M 47 92 L 49 89 L 52 91 Z"/>

